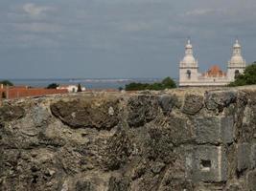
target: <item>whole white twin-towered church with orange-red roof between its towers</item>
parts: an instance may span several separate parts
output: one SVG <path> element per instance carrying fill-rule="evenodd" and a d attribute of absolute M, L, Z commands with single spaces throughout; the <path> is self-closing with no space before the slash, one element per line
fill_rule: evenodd
<path fill-rule="evenodd" d="M 233 46 L 233 54 L 227 64 L 227 73 L 223 73 L 219 66 L 213 66 L 204 74 L 198 73 L 198 60 L 193 55 L 193 46 L 188 40 L 185 55 L 179 62 L 179 86 L 225 86 L 235 80 L 237 74 L 243 74 L 245 60 L 241 53 L 238 40 Z"/>

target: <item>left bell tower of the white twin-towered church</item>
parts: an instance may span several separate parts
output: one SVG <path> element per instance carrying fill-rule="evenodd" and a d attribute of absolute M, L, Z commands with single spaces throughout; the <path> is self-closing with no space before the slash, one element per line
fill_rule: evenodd
<path fill-rule="evenodd" d="M 179 63 L 179 86 L 191 86 L 198 81 L 198 60 L 193 55 L 190 39 L 185 46 L 185 56 Z"/>

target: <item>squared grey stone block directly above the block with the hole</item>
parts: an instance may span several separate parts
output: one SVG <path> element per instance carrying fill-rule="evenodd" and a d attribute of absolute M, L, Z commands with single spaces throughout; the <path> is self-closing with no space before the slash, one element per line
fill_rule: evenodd
<path fill-rule="evenodd" d="M 233 117 L 198 117 L 195 120 L 198 143 L 233 141 Z"/>

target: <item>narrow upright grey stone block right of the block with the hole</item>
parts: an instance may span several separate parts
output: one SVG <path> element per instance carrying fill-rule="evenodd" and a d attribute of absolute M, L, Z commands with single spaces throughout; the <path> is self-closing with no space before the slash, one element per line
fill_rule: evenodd
<path fill-rule="evenodd" d="M 242 143 L 237 146 L 237 170 L 244 171 L 250 166 L 250 144 Z"/>

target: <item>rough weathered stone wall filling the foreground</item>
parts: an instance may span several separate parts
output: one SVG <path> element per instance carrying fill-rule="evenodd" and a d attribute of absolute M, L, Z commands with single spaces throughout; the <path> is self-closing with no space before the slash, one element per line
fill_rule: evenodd
<path fill-rule="evenodd" d="M 256 190 L 256 88 L 0 107 L 0 190 Z"/>

